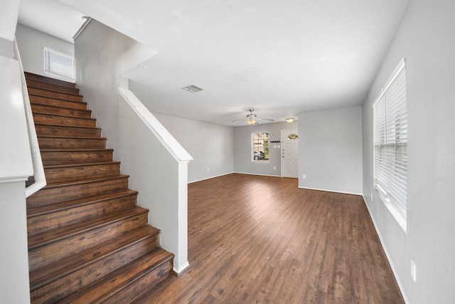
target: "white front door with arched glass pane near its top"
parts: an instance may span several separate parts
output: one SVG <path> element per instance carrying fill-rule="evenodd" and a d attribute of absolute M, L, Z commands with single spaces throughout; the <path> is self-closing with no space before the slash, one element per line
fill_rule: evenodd
<path fill-rule="evenodd" d="M 299 133 L 282 130 L 282 177 L 299 177 Z"/>

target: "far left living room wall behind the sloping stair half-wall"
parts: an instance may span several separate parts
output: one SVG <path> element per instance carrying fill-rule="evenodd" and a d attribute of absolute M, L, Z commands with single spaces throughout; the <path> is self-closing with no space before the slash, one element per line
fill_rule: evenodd
<path fill-rule="evenodd" d="M 157 113 L 154 115 L 193 157 L 188 164 L 188 182 L 234 171 L 232 127 Z"/>

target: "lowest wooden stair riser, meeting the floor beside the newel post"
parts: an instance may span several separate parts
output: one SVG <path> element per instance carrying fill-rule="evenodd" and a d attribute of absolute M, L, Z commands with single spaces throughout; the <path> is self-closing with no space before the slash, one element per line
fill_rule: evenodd
<path fill-rule="evenodd" d="M 119 290 L 118 293 L 112 295 L 107 300 L 103 300 L 104 304 L 117 304 L 117 303 L 132 303 L 137 300 L 141 295 L 147 293 L 152 287 L 158 285 L 162 281 L 171 276 L 173 268 L 173 260 L 166 261 L 153 271 L 149 271 L 144 276 L 141 276 L 137 281 L 128 285 L 126 288 Z M 101 302 L 99 302 L 101 303 Z"/>

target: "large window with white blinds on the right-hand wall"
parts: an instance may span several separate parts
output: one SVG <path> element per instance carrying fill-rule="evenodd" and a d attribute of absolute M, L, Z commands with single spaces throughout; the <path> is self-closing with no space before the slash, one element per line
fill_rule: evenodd
<path fill-rule="evenodd" d="M 407 211 L 406 59 L 373 104 L 374 183 L 385 204 L 406 219 Z M 396 218 L 396 217 L 395 217 Z"/>

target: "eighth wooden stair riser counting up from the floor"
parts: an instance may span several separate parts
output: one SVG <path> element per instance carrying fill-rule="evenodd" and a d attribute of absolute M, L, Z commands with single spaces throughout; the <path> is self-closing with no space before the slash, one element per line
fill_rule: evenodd
<path fill-rule="evenodd" d="M 106 139 L 38 137 L 40 149 L 105 149 Z"/>

